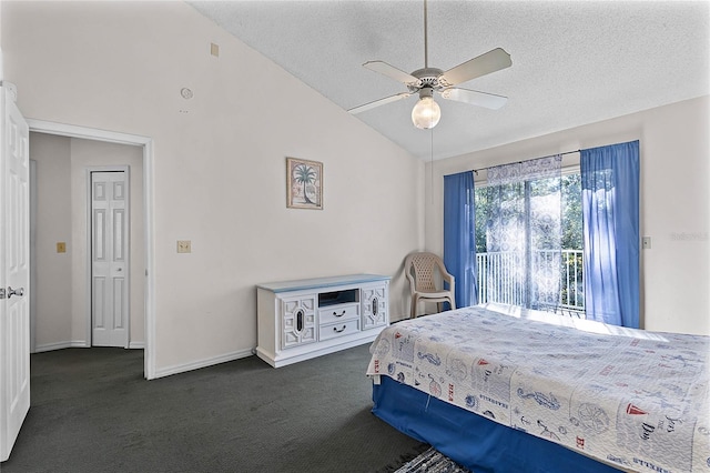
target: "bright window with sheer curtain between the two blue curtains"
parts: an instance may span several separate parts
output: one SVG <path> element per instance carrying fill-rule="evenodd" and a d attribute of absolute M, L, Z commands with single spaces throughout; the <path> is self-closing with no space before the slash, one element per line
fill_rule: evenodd
<path fill-rule="evenodd" d="M 477 184 L 478 302 L 584 314 L 581 178 Z"/>

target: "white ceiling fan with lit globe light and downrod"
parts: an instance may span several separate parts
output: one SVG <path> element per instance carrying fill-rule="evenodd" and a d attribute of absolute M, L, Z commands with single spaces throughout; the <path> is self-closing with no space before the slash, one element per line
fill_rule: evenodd
<path fill-rule="evenodd" d="M 404 83 L 407 87 L 408 92 L 385 97 L 384 99 L 375 100 L 374 102 L 349 109 L 348 112 L 352 114 L 361 113 L 374 109 L 375 107 L 406 99 L 414 93 L 418 93 L 419 101 L 412 110 L 412 121 L 417 128 L 429 129 L 436 127 L 442 118 L 440 108 L 433 98 L 434 92 L 439 93 L 443 98 L 448 100 L 456 100 L 459 102 L 470 103 L 473 105 L 497 110 L 506 103 L 508 100 L 507 97 L 479 92 L 477 90 L 460 89 L 454 85 L 509 68 L 510 66 L 513 66 L 510 54 L 500 48 L 496 48 L 447 71 L 429 68 L 427 6 L 426 0 L 424 0 L 424 68 L 417 69 L 412 73 L 407 73 L 384 61 L 367 61 L 363 64 L 363 67 L 371 71 L 379 72 L 381 74 Z"/>

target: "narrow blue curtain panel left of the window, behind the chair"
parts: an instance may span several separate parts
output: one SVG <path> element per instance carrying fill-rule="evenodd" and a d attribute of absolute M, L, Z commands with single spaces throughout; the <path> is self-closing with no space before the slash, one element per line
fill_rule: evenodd
<path fill-rule="evenodd" d="M 478 303 L 474 197 L 471 171 L 444 177 L 444 264 L 456 279 L 457 308 Z"/>

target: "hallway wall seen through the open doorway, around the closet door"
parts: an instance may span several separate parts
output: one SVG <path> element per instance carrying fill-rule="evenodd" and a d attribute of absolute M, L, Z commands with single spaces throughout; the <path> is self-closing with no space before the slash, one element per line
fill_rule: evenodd
<path fill-rule="evenodd" d="M 138 147 L 44 133 L 30 133 L 30 158 L 37 161 L 38 351 L 90 343 L 88 305 L 88 169 L 129 165 L 131 192 L 131 346 L 144 334 L 143 168 Z M 57 242 L 67 252 L 57 252 Z"/>

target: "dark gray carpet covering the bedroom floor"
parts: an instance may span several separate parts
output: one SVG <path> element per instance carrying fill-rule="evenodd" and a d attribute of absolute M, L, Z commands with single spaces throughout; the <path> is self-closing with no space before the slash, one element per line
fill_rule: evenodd
<path fill-rule="evenodd" d="M 381 472 L 423 444 L 371 413 L 368 345 L 273 369 L 256 356 L 154 381 L 143 352 L 31 356 L 2 473 Z"/>

